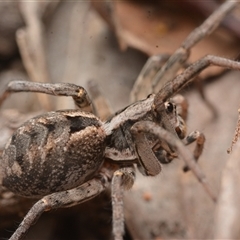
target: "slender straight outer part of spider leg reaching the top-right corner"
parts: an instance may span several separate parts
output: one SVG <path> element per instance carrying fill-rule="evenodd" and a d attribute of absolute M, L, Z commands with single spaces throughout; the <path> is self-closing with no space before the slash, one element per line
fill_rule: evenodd
<path fill-rule="evenodd" d="M 226 1 L 217 8 L 202 25 L 188 35 L 180 48 L 176 50 L 154 77 L 152 89 L 154 89 L 155 92 L 158 92 L 166 82 L 176 75 L 177 71 L 188 59 L 190 49 L 204 37 L 210 35 L 236 5 L 237 1 Z"/>

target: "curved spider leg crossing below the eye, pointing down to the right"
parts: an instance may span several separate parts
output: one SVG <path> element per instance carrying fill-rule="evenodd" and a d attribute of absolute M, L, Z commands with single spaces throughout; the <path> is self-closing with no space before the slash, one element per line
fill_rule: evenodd
<path fill-rule="evenodd" d="M 180 139 L 176 138 L 172 133 L 159 127 L 159 125 L 151 121 L 141 121 L 135 123 L 131 128 L 131 132 L 135 134 L 150 133 L 166 141 L 173 149 L 175 149 L 178 156 L 185 161 L 187 166 L 197 177 L 198 181 L 203 185 L 211 199 L 216 202 L 216 194 L 211 190 L 205 175 L 196 164 L 196 161 L 190 151 L 184 146 L 184 143 Z"/>

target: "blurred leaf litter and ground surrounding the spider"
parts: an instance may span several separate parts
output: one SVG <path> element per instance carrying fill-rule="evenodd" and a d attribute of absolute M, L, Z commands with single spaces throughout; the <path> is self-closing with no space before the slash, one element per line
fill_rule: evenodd
<path fill-rule="evenodd" d="M 0 2 L 0 92 L 11 80 L 69 82 L 88 89 L 98 83 L 113 112 L 130 103 L 130 92 L 150 56 L 172 54 L 222 1 L 4 1 Z M 192 50 L 189 62 L 206 54 L 239 58 L 239 9 Z M 154 178 L 137 174 L 125 193 L 126 240 L 240 238 L 240 146 L 231 145 L 240 104 L 239 73 L 209 68 L 189 103 L 188 132 L 206 136 L 199 164 L 218 194 L 214 204 L 181 160 Z M 91 93 L 91 92 L 90 92 Z M 0 149 L 25 120 L 49 110 L 75 108 L 71 98 L 12 94 L 0 111 Z M 194 144 L 193 144 L 194 145 Z M 190 147 L 192 148 L 192 146 Z M 0 239 L 9 238 L 36 200 L 0 186 Z M 112 239 L 108 192 L 80 206 L 44 213 L 26 239 Z"/>

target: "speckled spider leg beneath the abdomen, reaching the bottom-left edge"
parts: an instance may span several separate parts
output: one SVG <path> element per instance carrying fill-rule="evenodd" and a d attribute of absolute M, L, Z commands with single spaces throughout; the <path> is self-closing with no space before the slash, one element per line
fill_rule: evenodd
<path fill-rule="evenodd" d="M 107 170 L 106 170 L 107 171 Z M 99 175 L 81 186 L 62 192 L 56 192 L 43 197 L 36 202 L 27 213 L 10 240 L 22 239 L 32 224 L 42 215 L 43 212 L 51 209 L 71 207 L 94 198 L 110 185 L 108 172 Z"/>

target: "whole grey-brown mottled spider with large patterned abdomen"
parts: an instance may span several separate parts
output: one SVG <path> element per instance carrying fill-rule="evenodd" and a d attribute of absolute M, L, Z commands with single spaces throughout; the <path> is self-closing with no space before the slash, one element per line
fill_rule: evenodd
<path fill-rule="evenodd" d="M 235 5 L 236 2 L 228 1 L 217 9 L 189 35 L 177 50 L 177 56 L 183 53 L 180 59 L 186 60 L 190 47 L 210 34 Z M 179 58 L 176 54 L 173 56 L 163 67 L 164 73 L 170 66 L 178 65 Z M 6 144 L 0 162 L 0 183 L 16 194 L 40 198 L 11 239 L 22 239 L 44 211 L 80 204 L 111 188 L 113 235 L 121 240 L 123 190 L 134 184 L 135 166 L 143 175 L 156 176 L 161 171 L 161 163 L 175 157 L 185 161 L 216 201 L 196 164 L 204 136 L 198 131 L 186 136 L 185 117 L 178 96 L 174 96 L 210 65 L 240 70 L 240 63 L 236 61 L 208 55 L 169 78 L 155 94 L 132 103 L 104 122 L 88 112 L 91 100 L 82 87 L 67 83 L 10 82 L 0 103 L 12 92 L 41 92 L 71 96 L 79 108 L 87 109 L 48 112 L 32 118 L 19 127 Z M 157 80 L 154 86 L 158 85 Z M 192 154 L 185 145 L 194 141 L 197 144 Z"/>

